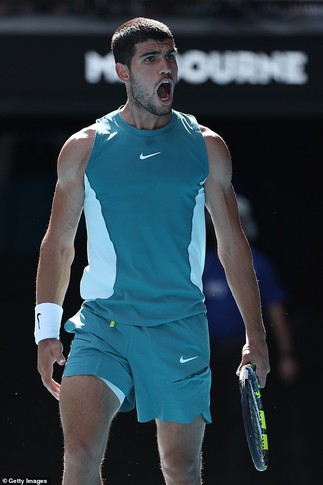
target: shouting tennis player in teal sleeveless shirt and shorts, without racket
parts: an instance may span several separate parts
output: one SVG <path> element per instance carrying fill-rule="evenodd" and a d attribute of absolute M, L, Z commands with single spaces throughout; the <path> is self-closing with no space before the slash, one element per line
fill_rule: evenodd
<path fill-rule="evenodd" d="M 136 18 L 112 38 L 126 104 L 74 134 L 58 160 L 58 182 L 40 249 L 35 309 L 38 369 L 60 400 L 65 485 L 102 483 L 111 422 L 137 405 L 155 420 L 168 485 L 198 485 L 209 411 L 209 338 L 202 291 L 204 205 L 221 262 L 246 325 L 239 369 L 270 370 L 249 244 L 222 138 L 172 110 L 176 46 L 169 28 Z M 65 324 L 74 334 L 65 364 L 59 330 L 84 210 L 88 266 L 84 300 Z"/>

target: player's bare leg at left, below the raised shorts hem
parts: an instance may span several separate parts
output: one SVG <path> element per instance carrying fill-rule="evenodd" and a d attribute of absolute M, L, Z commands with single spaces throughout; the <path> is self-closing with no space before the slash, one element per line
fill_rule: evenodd
<path fill-rule="evenodd" d="M 64 433 L 63 485 L 99 485 L 111 421 L 120 407 L 98 377 L 63 377 L 60 413 Z"/>

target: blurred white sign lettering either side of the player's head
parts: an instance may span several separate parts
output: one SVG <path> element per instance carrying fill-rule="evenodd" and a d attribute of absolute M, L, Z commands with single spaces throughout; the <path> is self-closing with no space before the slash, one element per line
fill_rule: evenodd
<path fill-rule="evenodd" d="M 300 50 L 275 50 L 271 54 L 251 50 L 209 53 L 187 50 L 177 55 L 178 80 L 189 84 L 306 84 L 308 55 Z M 112 53 L 101 56 L 95 50 L 85 54 L 85 80 L 95 84 L 120 82 Z"/>

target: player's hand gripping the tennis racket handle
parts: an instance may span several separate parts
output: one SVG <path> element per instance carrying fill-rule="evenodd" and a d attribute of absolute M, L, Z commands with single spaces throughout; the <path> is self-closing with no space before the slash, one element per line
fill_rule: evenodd
<path fill-rule="evenodd" d="M 256 365 L 256 375 L 259 380 L 260 387 L 265 387 L 266 376 L 270 372 L 270 364 L 268 358 L 268 349 L 266 343 L 263 341 L 257 345 L 245 344 L 242 350 L 242 360 L 237 368 L 236 375 L 240 375 L 240 370 L 245 364 L 253 362 Z"/>

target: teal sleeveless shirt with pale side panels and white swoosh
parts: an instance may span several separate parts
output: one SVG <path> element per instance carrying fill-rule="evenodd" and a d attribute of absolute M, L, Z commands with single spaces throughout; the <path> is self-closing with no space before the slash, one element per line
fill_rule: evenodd
<path fill-rule="evenodd" d="M 95 313 L 158 325 L 205 312 L 205 143 L 196 119 L 173 111 L 138 130 L 116 110 L 96 121 L 85 171 L 88 263 L 80 291 Z"/>

